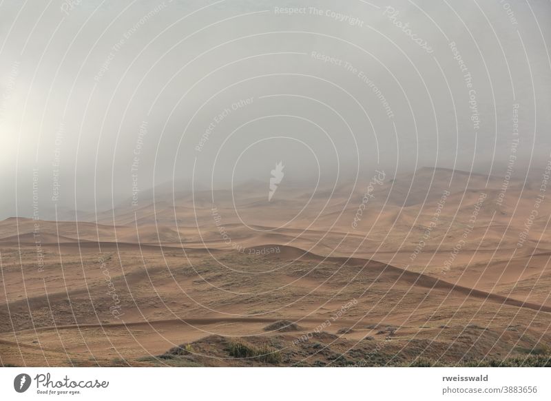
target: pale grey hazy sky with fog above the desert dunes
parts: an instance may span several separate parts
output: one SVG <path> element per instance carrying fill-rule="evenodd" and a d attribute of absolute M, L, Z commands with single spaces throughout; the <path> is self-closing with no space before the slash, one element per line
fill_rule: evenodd
<path fill-rule="evenodd" d="M 3 1 L 0 218 L 32 215 L 33 179 L 48 215 L 278 161 L 501 174 L 518 139 L 541 169 L 550 27 L 548 0 Z"/>

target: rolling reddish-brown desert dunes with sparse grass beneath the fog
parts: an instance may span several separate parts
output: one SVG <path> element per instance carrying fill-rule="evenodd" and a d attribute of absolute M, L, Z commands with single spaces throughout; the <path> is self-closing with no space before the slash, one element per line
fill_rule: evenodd
<path fill-rule="evenodd" d="M 371 177 L 370 177 L 371 178 Z M 548 352 L 539 178 L 156 193 L 0 222 L 5 366 L 390 366 Z M 356 219 L 355 219 L 356 217 Z M 528 224 L 527 224 L 528 221 Z"/>

